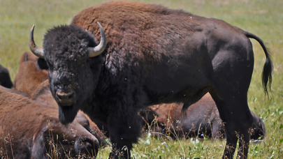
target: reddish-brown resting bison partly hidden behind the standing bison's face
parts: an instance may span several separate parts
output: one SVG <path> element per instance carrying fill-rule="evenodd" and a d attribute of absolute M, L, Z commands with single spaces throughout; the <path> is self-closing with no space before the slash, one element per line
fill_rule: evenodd
<path fill-rule="evenodd" d="M 41 105 L 46 107 L 53 107 L 58 110 L 58 105 L 49 89 L 48 72 L 41 70 L 39 63 L 36 63 L 38 57 L 34 57 L 31 52 L 24 52 L 20 59 L 20 68 L 17 71 L 15 77 L 15 89 L 29 93 L 30 98 L 35 100 Z M 15 90 L 16 91 L 16 90 Z M 75 121 L 80 123 L 85 129 L 99 140 L 101 145 L 106 145 L 106 139 L 108 139 L 96 124 L 88 119 L 88 116 L 83 112 L 78 112 L 75 116 Z"/>

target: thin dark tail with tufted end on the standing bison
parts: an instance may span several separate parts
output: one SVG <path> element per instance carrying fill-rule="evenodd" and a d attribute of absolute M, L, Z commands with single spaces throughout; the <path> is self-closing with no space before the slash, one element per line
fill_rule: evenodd
<path fill-rule="evenodd" d="M 259 37 L 257 37 L 252 33 L 248 33 L 247 31 L 245 31 L 244 34 L 245 36 L 247 36 L 247 38 L 253 38 L 254 40 L 258 41 L 261 47 L 263 48 L 264 53 L 266 54 L 266 63 L 264 63 L 261 77 L 262 77 L 262 85 L 264 92 L 268 96 L 268 89 L 271 92 L 271 82 L 272 82 L 271 73 L 273 72 L 273 62 L 270 59 L 270 54 L 268 53 L 268 50 L 266 49 L 266 46 L 264 45 L 263 41 Z"/>

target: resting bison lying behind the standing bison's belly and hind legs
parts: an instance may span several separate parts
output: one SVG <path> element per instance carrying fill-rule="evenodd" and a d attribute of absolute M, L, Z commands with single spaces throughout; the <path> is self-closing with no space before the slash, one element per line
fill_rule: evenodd
<path fill-rule="evenodd" d="M 153 105 L 140 112 L 140 115 L 146 121 L 147 130 L 157 137 L 170 135 L 173 138 L 225 138 L 224 124 L 209 93 L 189 106 L 185 114 L 181 112 L 182 105 L 177 103 Z M 266 127 L 259 116 L 252 111 L 251 113 L 254 122 L 250 139 L 263 139 Z"/>

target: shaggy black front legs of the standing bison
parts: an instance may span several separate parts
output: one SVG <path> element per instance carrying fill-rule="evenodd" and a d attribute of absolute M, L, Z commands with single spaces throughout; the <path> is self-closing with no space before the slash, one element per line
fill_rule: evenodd
<path fill-rule="evenodd" d="M 138 112 L 131 109 L 116 111 L 108 116 L 113 149 L 109 158 L 131 158 L 133 143 L 138 142 L 142 129 Z"/>

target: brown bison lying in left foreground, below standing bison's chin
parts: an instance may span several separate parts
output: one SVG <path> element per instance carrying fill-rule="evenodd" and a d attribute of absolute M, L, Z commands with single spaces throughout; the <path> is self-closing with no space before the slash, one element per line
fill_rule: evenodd
<path fill-rule="evenodd" d="M 73 122 L 59 122 L 58 110 L 0 89 L 1 158 L 96 156 L 98 140 Z"/>

